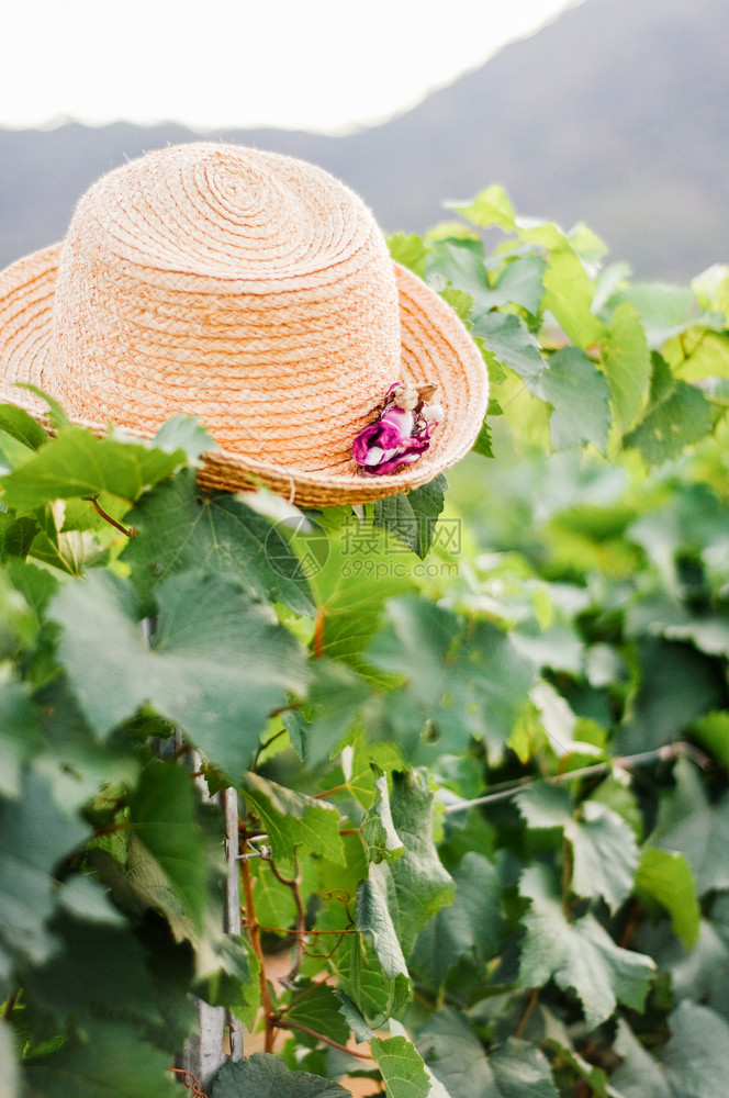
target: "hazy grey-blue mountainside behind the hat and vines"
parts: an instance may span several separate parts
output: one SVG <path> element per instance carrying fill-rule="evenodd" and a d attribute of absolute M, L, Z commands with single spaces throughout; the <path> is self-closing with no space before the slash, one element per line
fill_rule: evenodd
<path fill-rule="evenodd" d="M 383 125 L 206 136 L 322 165 L 389 231 L 501 182 L 523 213 L 586 221 L 638 274 L 686 279 L 729 260 L 727 42 L 726 0 L 585 0 Z M 194 139 L 172 124 L 0 131 L 0 264 L 61 237 L 103 171 Z"/>

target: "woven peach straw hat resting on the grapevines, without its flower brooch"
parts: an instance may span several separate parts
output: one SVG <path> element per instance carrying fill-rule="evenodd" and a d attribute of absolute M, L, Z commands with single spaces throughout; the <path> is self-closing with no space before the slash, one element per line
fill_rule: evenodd
<path fill-rule="evenodd" d="M 232 145 L 149 153 L 86 193 L 65 242 L 0 273 L 0 400 L 150 437 L 199 415 L 204 488 L 303 505 L 424 484 L 463 457 L 487 382 L 453 311 L 394 264 L 370 212 L 312 165 Z M 352 440 L 402 381 L 437 385 L 427 449 L 377 475 Z"/>

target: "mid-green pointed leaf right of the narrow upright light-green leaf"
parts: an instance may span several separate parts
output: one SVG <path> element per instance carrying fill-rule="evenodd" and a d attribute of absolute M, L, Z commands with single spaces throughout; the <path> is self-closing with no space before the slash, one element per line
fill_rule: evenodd
<path fill-rule="evenodd" d="M 711 405 L 700 389 L 673 379 L 659 355 L 652 363 L 648 411 L 624 442 L 640 450 L 648 464 L 660 464 L 709 433 Z"/>

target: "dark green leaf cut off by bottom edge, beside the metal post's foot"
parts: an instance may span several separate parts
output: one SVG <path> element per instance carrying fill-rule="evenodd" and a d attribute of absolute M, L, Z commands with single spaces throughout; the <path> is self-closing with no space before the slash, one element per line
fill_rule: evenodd
<path fill-rule="evenodd" d="M 291 1072 L 280 1056 L 255 1052 L 237 1064 L 225 1064 L 211 1098 L 349 1098 L 332 1079 L 310 1072 Z"/>

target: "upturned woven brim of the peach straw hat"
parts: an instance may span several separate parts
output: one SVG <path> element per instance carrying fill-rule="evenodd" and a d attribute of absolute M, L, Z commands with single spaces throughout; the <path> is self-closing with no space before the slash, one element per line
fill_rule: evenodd
<path fill-rule="evenodd" d="M 38 421 L 47 411 L 19 382 L 53 392 L 53 302 L 63 245 L 35 251 L 0 273 L 0 401 L 16 404 Z M 412 271 L 393 264 L 400 298 L 402 380 L 437 384 L 445 416 L 430 447 L 396 473 L 377 475 L 312 471 L 250 460 L 225 450 L 204 455 L 198 471 L 201 488 L 228 492 L 263 484 L 302 506 L 367 503 L 431 481 L 473 446 L 486 410 L 489 382 L 478 347 L 453 310 Z M 384 396 L 384 393 L 383 393 Z M 76 421 L 81 422 L 81 421 Z M 82 421 L 97 433 L 110 424 Z M 119 424 L 142 438 L 133 423 Z"/>

